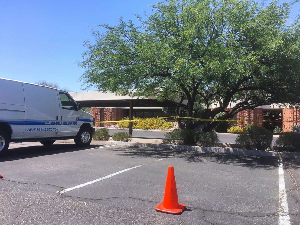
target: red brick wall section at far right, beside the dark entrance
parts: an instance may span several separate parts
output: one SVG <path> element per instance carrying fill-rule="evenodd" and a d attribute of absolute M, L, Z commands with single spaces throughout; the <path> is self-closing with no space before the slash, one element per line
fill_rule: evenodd
<path fill-rule="evenodd" d="M 299 125 L 299 121 L 300 108 L 284 108 L 282 115 L 282 132 L 292 131 L 292 126 Z"/>

